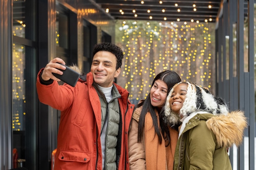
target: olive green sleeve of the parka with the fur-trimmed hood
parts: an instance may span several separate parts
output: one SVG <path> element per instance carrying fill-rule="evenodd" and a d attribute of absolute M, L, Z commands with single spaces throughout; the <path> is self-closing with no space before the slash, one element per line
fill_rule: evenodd
<path fill-rule="evenodd" d="M 205 124 L 205 121 L 192 128 L 189 132 L 189 138 L 186 141 L 189 144 L 189 153 L 186 150 L 185 155 L 190 161 L 189 170 L 212 170 L 213 154 L 216 148 L 216 137 Z"/>

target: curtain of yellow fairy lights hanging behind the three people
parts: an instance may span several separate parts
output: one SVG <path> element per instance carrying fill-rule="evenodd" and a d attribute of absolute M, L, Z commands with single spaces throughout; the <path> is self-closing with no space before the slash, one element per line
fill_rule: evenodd
<path fill-rule="evenodd" d="M 208 23 L 126 21 L 118 28 L 125 56 L 118 83 L 131 100 L 146 98 L 153 78 L 164 70 L 211 88 L 214 47 Z"/>

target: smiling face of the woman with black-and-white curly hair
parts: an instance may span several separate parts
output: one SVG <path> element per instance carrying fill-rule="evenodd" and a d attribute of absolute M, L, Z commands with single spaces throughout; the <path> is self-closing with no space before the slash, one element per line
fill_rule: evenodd
<path fill-rule="evenodd" d="M 171 99 L 169 101 L 173 113 L 179 114 L 184 100 L 186 99 L 187 88 L 188 84 L 181 83 L 173 89 L 173 93 L 171 94 Z"/>

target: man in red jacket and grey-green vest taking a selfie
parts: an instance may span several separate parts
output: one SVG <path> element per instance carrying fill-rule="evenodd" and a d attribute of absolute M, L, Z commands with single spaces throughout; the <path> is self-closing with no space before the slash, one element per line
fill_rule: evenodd
<path fill-rule="evenodd" d="M 127 139 L 134 105 L 128 91 L 114 82 L 123 57 L 115 44 L 96 44 L 90 73 L 80 73 L 74 87 L 59 85 L 52 74 L 63 74 L 60 58 L 39 71 L 40 102 L 61 110 L 54 170 L 129 169 Z"/>

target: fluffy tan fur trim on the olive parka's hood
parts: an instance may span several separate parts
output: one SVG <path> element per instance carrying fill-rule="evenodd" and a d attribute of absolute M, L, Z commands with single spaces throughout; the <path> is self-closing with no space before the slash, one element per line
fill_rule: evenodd
<path fill-rule="evenodd" d="M 244 112 L 237 110 L 227 115 L 213 116 L 206 121 L 207 128 L 216 135 L 216 140 L 221 147 L 239 146 L 243 141 L 247 120 Z"/>

